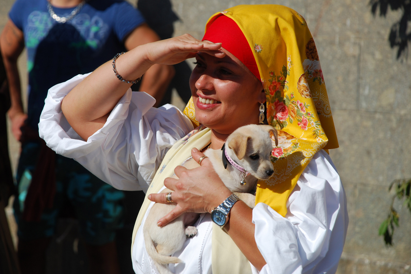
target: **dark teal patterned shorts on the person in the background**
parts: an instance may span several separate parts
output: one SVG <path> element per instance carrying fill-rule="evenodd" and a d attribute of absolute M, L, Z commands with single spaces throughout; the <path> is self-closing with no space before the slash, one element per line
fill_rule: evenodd
<path fill-rule="evenodd" d="M 30 181 L 28 179 L 35 169 L 40 149 L 41 144 L 36 142 L 22 145 L 16 175 L 18 184 Z M 88 244 L 112 242 L 115 230 L 123 227 L 123 191 L 106 184 L 73 159 L 57 154 L 55 161 L 56 192 L 53 207 L 44 209 L 39 222 L 22 219 L 24 195 L 14 199 L 19 239 L 52 237 L 57 218 L 69 214 L 78 219 L 80 234 Z"/>

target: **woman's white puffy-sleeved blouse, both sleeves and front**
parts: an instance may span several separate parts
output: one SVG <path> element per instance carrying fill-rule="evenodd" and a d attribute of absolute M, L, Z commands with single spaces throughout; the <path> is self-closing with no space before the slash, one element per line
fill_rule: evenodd
<path fill-rule="evenodd" d="M 58 154 L 74 158 L 117 189 L 147 191 L 169 148 L 193 130 L 191 121 L 172 105 L 152 108 L 155 99 L 129 89 L 107 122 L 88 140 L 81 139 L 61 111 L 62 99 L 87 75 L 78 75 L 48 91 L 39 134 Z M 153 203 L 150 204 L 149 210 Z M 145 251 L 142 228 L 132 246 L 136 273 L 156 269 Z M 264 203 L 253 209 L 257 246 L 267 264 L 252 273 L 335 273 L 344 246 L 348 214 L 344 188 L 326 152 L 317 152 L 287 201 L 285 217 Z M 201 214 L 198 235 L 187 239 L 170 264 L 174 273 L 212 273 L 210 214 Z"/>

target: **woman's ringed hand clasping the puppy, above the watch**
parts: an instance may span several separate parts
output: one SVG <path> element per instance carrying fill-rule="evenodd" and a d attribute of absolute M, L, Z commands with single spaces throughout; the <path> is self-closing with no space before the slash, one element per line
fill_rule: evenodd
<path fill-rule="evenodd" d="M 196 148 L 192 149 L 191 154 L 197 163 L 204 156 Z M 174 191 L 171 199 L 177 206 L 159 219 L 157 226 L 164 226 L 185 212 L 211 212 L 232 194 L 214 171 L 208 158 L 201 161 L 199 168 L 187 169 L 177 166 L 174 172 L 178 179 L 167 178 L 164 180 L 164 186 Z M 150 194 L 148 199 L 157 203 L 167 203 L 166 194 Z"/>

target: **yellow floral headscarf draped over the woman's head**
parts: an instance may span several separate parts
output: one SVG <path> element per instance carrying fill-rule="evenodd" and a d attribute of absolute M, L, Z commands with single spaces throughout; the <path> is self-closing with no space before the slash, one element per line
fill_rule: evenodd
<path fill-rule="evenodd" d="M 285 216 L 286 201 L 314 154 L 338 147 L 314 39 L 304 18 L 281 5 L 232 7 L 211 16 L 206 31 L 221 14 L 236 22 L 252 49 L 266 92 L 267 121 L 278 129 L 274 175 L 258 183 L 256 203 Z M 184 113 L 199 124 L 192 99 Z"/>

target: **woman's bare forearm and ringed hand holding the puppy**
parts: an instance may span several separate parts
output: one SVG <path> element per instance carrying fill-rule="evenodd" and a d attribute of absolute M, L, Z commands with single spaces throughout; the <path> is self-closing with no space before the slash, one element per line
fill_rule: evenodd
<path fill-rule="evenodd" d="M 193 159 L 197 163 L 203 155 L 195 148 L 192 150 Z M 159 226 L 166 225 L 184 212 L 210 213 L 232 194 L 218 177 L 212 168 L 212 163 L 207 158 L 201 162 L 200 168 L 187 170 L 178 166 L 174 171 L 180 179 L 166 178 L 164 186 L 174 191 L 172 198 L 177 206 L 159 220 L 157 223 Z M 166 193 L 150 194 L 148 199 L 158 203 L 167 203 L 165 195 Z M 266 265 L 255 241 L 252 209 L 243 201 L 239 200 L 233 205 L 229 222 L 224 226 L 224 230 L 254 267 L 260 271 Z"/>

